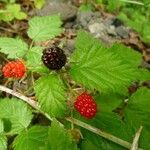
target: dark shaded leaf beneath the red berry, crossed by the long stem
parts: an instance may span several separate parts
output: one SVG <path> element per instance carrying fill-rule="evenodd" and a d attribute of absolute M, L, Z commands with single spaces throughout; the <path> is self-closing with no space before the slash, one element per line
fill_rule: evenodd
<path fill-rule="evenodd" d="M 97 113 L 96 117 L 91 120 L 83 118 L 78 119 L 96 128 L 99 128 L 101 131 L 105 131 L 125 141 L 132 140 L 133 136 L 132 132 L 127 130 L 125 123 L 114 113 L 100 111 Z M 90 141 L 91 142 L 90 145 L 95 149 L 125 150 L 125 148 L 121 147 L 119 144 L 106 140 L 101 136 L 94 134 L 83 128 L 81 128 L 81 133 L 83 135 L 84 140 Z"/>

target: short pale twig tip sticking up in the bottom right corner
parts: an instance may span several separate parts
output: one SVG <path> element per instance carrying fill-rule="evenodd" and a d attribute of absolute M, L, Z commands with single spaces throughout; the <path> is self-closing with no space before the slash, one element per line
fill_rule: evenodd
<path fill-rule="evenodd" d="M 139 138 L 140 138 L 142 129 L 143 129 L 143 126 L 140 126 L 140 128 L 136 132 L 130 150 L 138 150 L 138 142 L 139 142 Z"/>

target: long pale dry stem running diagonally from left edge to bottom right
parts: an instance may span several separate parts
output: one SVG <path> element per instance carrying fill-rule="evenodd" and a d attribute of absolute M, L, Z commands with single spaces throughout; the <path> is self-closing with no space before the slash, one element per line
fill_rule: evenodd
<path fill-rule="evenodd" d="M 31 98 L 28 98 L 28 97 L 26 97 L 26 96 L 24 96 L 24 95 L 22 95 L 22 94 L 20 94 L 18 92 L 15 92 L 15 91 L 13 91 L 13 90 L 5 87 L 5 86 L 2 86 L 2 85 L 0 85 L 0 91 L 6 92 L 6 93 L 9 93 L 9 94 L 11 94 L 13 96 L 18 97 L 20 100 L 23 100 L 24 102 L 28 103 L 30 106 L 32 106 L 34 109 L 38 110 L 45 117 L 47 117 L 49 120 L 52 121 L 52 118 L 47 113 L 41 111 L 40 110 L 40 106 L 38 105 L 38 103 L 36 101 L 32 100 Z M 123 146 L 123 147 L 125 147 L 127 149 L 130 149 L 131 146 L 132 146 L 131 143 L 126 142 L 126 141 L 124 141 L 122 139 L 119 139 L 119 138 L 117 138 L 117 137 L 115 137 L 115 136 L 113 136 L 113 135 L 111 135 L 109 133 L 106 133 L 104 131 L 101 131 L 100 129 L 95 128 L 95 127 L 93 127 L 93 126 L 91 126 L 89 124 L 86 124 L 86 123 L 84 123 L 84 122 L 82 122 L 80 120 L 77 120 L 77 119 L 74 119 L 74 118 L 70 118 L 70 117 L 66 118 L 66 120 L 71 122 L 71 123 L 73 123 L 73 124 L 76 124 L 76 125 L 78 125 L 78 126 L 80 126 L 82 128 L 85 128 L 85 129 L 87 129 L 87 130 L 89 130 L 89 131 L 91 131 L 91 132 L 93 132 L 93 133 L 95 133 L 97 135 L 100 135 L 101 137 L 103 137 L 103 138 L 105 138 L 107 140 L 110 140 L 110 141 L 112 141 L 112 142 L 114 142 L 116 144 L 119 144 L 119 145 L 121 145 L 121 146 Z M 142 149 L 138 148 L 138 150 L 142 150 Z"/>

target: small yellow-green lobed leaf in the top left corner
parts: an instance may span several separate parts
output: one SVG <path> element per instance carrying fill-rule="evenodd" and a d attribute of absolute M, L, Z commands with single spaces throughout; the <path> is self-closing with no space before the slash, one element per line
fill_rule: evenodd
<path fill-rule="evenodd" d="M 0 10 L 0 20 L 12 21 L 13 19 L 23 20 L 27 15 L 21 11 L 19 4 L 8 4 L 5 9 Z"/>

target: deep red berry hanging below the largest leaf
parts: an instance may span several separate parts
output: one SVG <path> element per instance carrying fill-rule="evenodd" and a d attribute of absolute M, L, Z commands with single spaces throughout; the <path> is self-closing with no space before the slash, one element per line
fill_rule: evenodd
<path fill-rule="evenodd" d="M 77 97 L 74 107 L 81 114 L 81 116 L 88 119 L 93 118 L 97 112 L 96 102 L 87 92 L 84 92 Z"/>

